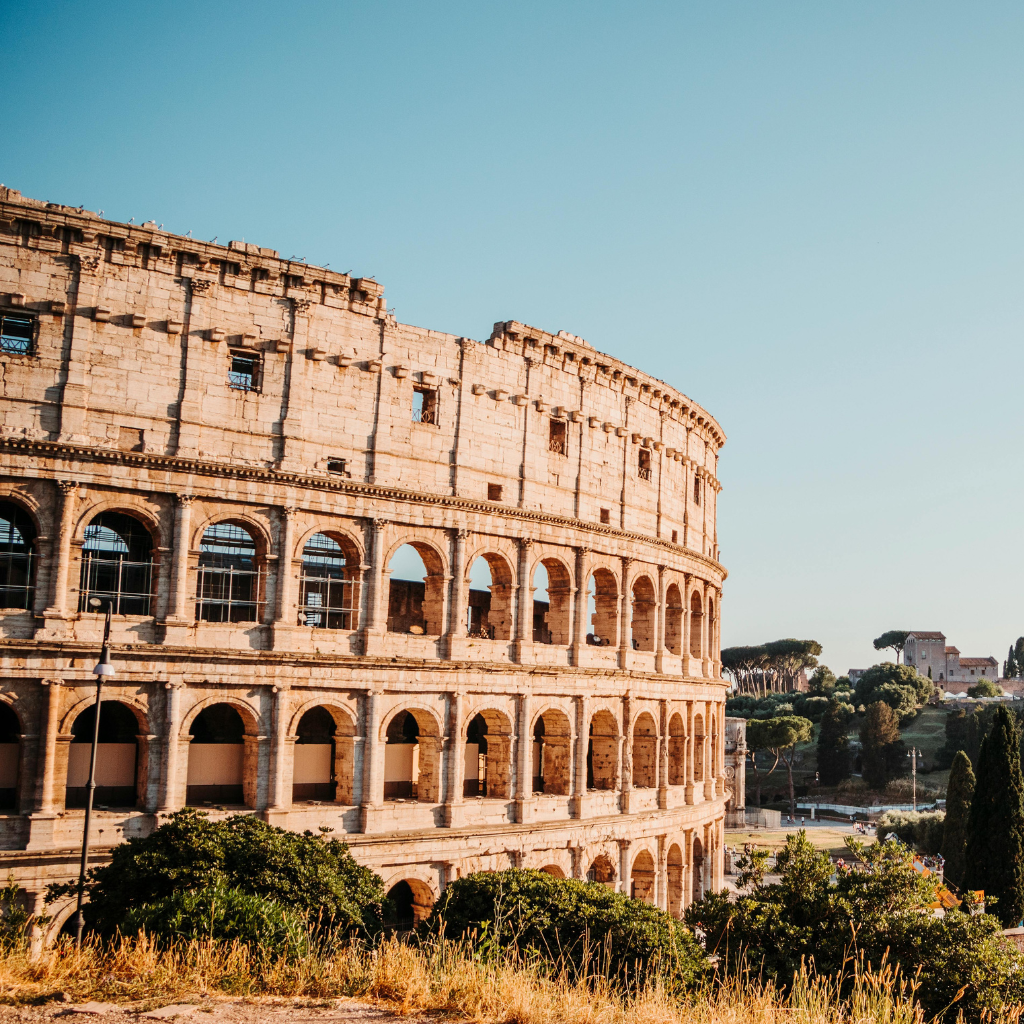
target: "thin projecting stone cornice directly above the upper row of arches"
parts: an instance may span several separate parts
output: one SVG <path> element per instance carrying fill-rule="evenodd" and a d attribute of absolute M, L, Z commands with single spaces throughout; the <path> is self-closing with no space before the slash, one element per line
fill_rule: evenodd
<path fill-rule="evenodd" d="M 451 495 L 426 495 L 422 492 L 404 490 L 400 487 L 386 487 L 380 484 L 362 483 L 357 480 L 347 480 L 344 478 L 335 479 L 304 473 L 289 473 L 258 466 L 239 466 L 205 462 L 201 459 L 181 459 L 177 456 L 161 456 L 142 452 L 120 452 L 69 444 L 62 441 L 29 440 L 20 437 L 0 438 L 0 452 L 24 453 L 49 459 L 66 459 L 86 463 L 99 463 L 102 465 L 137 466 L 140 469 L 162 470 L 167 473 L 186 473 L 220 479 L 255 480 L 270 485 L 298 485 L 327 493 L 352 495 L 360 498 L 382 498 L 390 501 L 406 502 L 410 505 L 450 508 L 463 512 L 494 515 L 503 519 L 517 519 L 521 522 L 545 523 L 552 526 L 562 526 L 567 530 L 588 534 L 591 537 L 606 537 L 609 540 L 635 541 L 653 545 L 678 557 L 691 559 L 698 565 L 706 567 L 709 572 L 717 575 L 722 583 L 728 578 L 728 571 L 721 563 L 709 558 L 707 555 L 701 555 L 699 552 L 693 551 L 691 548 L 683 548 L 663 538 L 615 529 L 612 526 L 584 522 L 580 519 L 570 519 L 567 516 L 552 515 L 548 512 L 538 512 L 532 509 L 519 509 L 512 508 L 511 506 L 501 506 L 499 508 L 490 502 L 456 498 Z M 204 496 L 197 495 L 196 497 L 202 499 Z M 207 497 L 217 498 L 218 496 L 210 495 Z"/>

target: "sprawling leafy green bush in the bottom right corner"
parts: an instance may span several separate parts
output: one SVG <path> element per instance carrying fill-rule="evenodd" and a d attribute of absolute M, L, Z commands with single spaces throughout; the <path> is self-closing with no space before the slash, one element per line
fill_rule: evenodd
<path fill-rule="evenodd" d="M 850 958 L 862 955 L 876 969 L 888 959 L 916 978 L 926 1017 L 954 1020 L 963 1012 L 981 1021 L 1020 1000 L 1024 958 L 1000 940 L 996 919 L 957 909 L 935 918 L 938 880 L 919 874 L 903 846 L 852 839 L 847 846 L 863 863 L 837 871 L 805 833 L 791 836 L 777 857 L 777 883 L 749 870 L 735 901 L 711 893 L 687 908 L 686 922 L 703 930 L 722 970 L 754 968 L 783 987 L 813 962 L 848 992 Z"/>

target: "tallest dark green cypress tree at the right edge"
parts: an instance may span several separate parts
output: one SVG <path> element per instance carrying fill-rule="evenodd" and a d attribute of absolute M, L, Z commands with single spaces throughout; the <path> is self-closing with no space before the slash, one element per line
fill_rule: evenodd
<path fill-rule="evenodd" d="M 1002 707 L 981 743 L 966 858 L 965 887 L 995 898 L 992 912 L 1004 928 L 1017 925 L 1024 916 L 1024 779 L 1020 735 Z"/>

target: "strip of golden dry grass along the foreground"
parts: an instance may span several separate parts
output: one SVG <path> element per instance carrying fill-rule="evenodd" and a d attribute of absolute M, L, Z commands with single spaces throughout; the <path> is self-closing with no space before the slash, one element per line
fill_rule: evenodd
<path fill-rule="evenodd" d="M 182 943 L 158 949 L 144 937 L 76 951 L 63 943 L 32 961 L 0 954 L 0 1001 L 100 999 L 135 1006 L 199 994 L 340 996 L 383 1002 L 399 1014 L 429 1013 L 494 1024 L 925 1024 L 905 985 L 890 972 L 859 977 L 839 998 L 828 978 L 806 975 L 788 995 L 756 980 L 710 984 L 686 996 L 654 983 L 616 993 L 601 978 L 551 978 L 510 953 L 476 958 L 445 941 L 414 947 L 396 940 L 353 945 L 331 956 L 267 964 L 244 946 Z"/>

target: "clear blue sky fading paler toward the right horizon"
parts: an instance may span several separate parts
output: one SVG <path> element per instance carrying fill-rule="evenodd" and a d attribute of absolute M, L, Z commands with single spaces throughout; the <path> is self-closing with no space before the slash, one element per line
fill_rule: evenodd
<path fill-rule="evenodd" d="M 1019 3 L 0 0 L 0 180 L 710 409 L 726 644 L 1024 634 Z"/>

